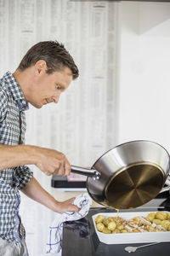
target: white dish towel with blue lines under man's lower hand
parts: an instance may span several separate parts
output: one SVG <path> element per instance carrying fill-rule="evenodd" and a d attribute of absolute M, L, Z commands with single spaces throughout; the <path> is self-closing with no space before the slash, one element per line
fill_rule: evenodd
<path fill-rule="evenodd" d="M 77 220 L 88 214 L 92 200 L 87 193 L 78 195 L 73 204 L 81 210 L 79 212 L 56 213 L 56 218 L 48 230 L 48 243 L 46 253 L 55 253 L 60 256 L 62 252 L 61 241 L 63 235 L 63 223 L 65 221 Z"/>

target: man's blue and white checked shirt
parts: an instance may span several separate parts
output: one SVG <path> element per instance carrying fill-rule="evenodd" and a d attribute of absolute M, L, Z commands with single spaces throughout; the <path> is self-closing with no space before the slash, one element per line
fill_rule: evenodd
<path fill-rule="evenodd" d="M 0 143 L 25 143 L 28 104 L 12 73 L 0 79 Z M 20 242 L 25 229 L 20 221 L 20 193 L 32 177 L 27 166 L 0 171 L 0 238 Z"/>

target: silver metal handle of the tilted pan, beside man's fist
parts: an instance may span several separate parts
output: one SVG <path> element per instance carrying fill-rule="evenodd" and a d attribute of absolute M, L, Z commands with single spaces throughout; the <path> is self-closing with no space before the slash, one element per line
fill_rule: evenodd
<path fill-rule="evenodd" d="M 100 173 L 97 172 L 94 168 L 93 169 L 87 169 L 79 166 L 71 166 L 71 172 L 88 176 L 88 177 L 93 177 L 94 180 L 99 179 Z"/>

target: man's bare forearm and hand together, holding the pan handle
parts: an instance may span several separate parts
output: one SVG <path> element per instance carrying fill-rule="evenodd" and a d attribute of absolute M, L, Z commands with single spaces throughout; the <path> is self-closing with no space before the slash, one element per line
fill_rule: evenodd
<path fill-rule="evenodd" d="M 71 165 L 65 154 L 33 145 L 0 144 L 0 170 L 10 167 L 36 165 L 47 175 L 70 175 Z"/>

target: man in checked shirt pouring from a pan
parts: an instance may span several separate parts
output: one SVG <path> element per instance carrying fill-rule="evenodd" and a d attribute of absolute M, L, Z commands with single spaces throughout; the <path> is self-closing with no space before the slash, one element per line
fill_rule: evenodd
<path fill-rule="evenodd" d="M 45 41 L 32 46 L 16 71 L 0 80 L 0 256 L 28 255 L 19 190 L 54 212 L 79 211 L 72 205 L 74 198 L 56 201 L 25 166 L 36 165 L 46 175 L 69 175 L 65 154 L 24 144 L 28 103 L 35 108 L 57 103 L 77 77 L 77 66 L 64 45 Z"/>

